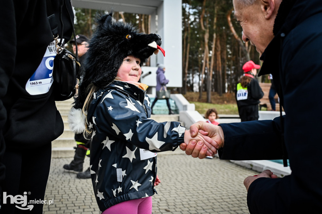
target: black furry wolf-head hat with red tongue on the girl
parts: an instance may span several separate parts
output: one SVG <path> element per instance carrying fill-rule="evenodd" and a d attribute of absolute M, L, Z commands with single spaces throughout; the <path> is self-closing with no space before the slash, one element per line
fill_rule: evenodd
<path fill-rule="evenodd" d="M 118 73 L 123 59 L 133 55 L 141 60 L 140 66 L 153 53 L 160 50 L 161 37 L 157 34 L 139 33 L 131 23 L 112 19 L 113 12 L 98 14 L 98 26 L 90 39 L 84 65 L 84 77 L 75 99 L 74 108 L 82 109 L 87 97 L 87 88 L 93 83 L 98 88 L 104 88 L 111 83 Z"/>

